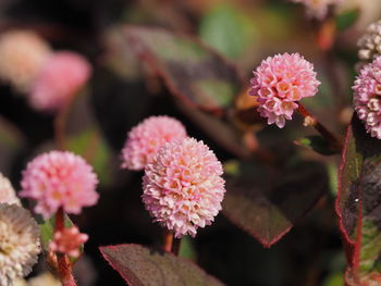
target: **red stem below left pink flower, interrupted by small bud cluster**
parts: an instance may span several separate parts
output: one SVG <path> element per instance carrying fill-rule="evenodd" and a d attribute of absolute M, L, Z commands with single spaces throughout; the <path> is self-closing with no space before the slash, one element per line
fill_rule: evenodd
<path fill-rule="evenodd" d="M 56 213 L 54 233 L 62 232 L 64 228 L 63 209 L 60 208 Z M 72 274 L 72 265 L 66 254 L 57 252 L 58 274 L 63 286 L 76 286 Z"/>

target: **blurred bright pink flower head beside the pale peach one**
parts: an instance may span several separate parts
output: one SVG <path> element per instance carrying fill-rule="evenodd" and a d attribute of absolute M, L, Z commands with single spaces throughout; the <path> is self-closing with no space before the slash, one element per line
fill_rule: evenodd
<path fill-rule="evenodd" d="M 41 111 L 59 110 L 85 85 L 90 72 L 90 64 L 81 54 L 53 53 L 32 85 L 30 105 Z"/>

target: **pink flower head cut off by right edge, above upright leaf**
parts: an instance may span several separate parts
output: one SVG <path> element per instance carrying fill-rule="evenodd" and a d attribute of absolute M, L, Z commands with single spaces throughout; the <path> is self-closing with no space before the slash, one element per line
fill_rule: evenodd
<path fill-rule="evenodd" d="M 357 116 L 371 137 L 381 139 L 381 57 L 364 66 L 353 89 Z"/>

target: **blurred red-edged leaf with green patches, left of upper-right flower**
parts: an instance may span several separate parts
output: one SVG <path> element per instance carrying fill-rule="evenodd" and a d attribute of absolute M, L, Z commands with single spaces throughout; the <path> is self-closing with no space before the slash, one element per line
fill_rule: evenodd
<path fill-rule="evenodd" d="M 242 88 L 236 69 L 198 40 L 161 28 L 127 26 L 137 55 L 175 96 L 208 111 L 221 111 Z"/>

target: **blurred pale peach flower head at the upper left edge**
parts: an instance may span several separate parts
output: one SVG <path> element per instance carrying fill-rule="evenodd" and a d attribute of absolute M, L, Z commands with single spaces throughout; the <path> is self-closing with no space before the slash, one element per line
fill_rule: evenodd
<path fill-rule="evenodd" d="M 35 33 L 5 32 L 0 35 L 0 78 L 27 92 L 50 54 L 49 45 Z"/>

